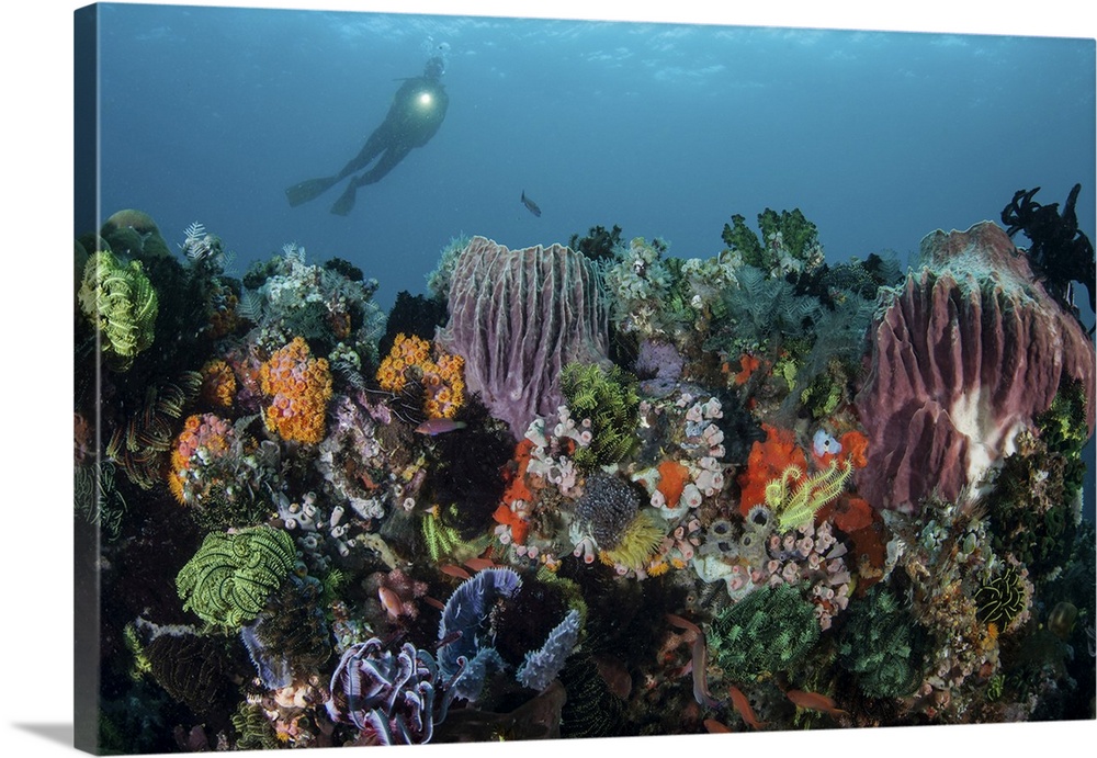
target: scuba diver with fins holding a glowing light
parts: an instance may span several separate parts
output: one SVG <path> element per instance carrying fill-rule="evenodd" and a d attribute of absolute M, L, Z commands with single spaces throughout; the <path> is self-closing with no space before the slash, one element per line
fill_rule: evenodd
<path fill-rule="evenodd" d="M 393 95 L 393 104 L 381 126 L 365 140 L 362 150 L 333 177 L 306 179 L 285 191 L 290 205 L 296 207 L 326 192 L 329 188 L 352 173 L 364 169 L 375 158 L 377 162 L 369 171 L 354 177 L 347 184 L 339 200 L 331 206 L 331 213 L 346 216 L 354 207 L 358 188 L 381 181 L 392 171 L 411 148 L 422 147 L 438 132 L 445 118 L 450 98 L 439 82 L 444 63 L 439 57 L 427 61 L 421 77 L 407 79 Z"/>

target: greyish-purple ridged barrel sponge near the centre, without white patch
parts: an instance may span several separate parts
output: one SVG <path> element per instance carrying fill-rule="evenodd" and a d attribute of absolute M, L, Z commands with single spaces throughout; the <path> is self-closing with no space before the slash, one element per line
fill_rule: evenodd
<path fill-rule="evenodd" d="M 465 359 L 465 384 L 521 439 L 561 405 L 572 361 L 603 363 L 609 309 L 587 258 L 562 245 L 508 250 L 473 237 L 450 284 L 450 320 L 438 331 Z"/>

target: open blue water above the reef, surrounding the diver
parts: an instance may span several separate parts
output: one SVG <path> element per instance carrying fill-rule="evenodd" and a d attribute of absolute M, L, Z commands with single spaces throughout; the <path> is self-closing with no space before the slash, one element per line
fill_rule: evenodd
<path fill-rule="evenodd" d="M 1076 182 L 1095 231 L 1092 39 L 101 8 L 104 217 L 144 210 L 172 245 L 201 222 L 237 274 L 291 241 L 344 258 L 383 307 L 462 233 L 520 247 L 618 224 L 706 258 L 732 214 L 799 207 L 833 261 L 905 257 Z M 328 211 L 341 188 L 291 208 L 284 189 L 338 171 L 431 55 L 434 138 L 348 217 Z"/>

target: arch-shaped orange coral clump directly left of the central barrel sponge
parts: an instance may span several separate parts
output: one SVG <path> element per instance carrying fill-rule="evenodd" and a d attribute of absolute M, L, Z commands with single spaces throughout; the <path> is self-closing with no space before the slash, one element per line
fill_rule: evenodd
<path fill-rule="evenodd" d="M 465 401 L 465 361 L 440 350 L 434 353 L 432 360 L 430 343 L 421 337 L 399 333 L 377 369 L 377 382 L 382 389 L 399 393 L 415 380 L 426 394 L 427 418 L 453 418 Z"/>

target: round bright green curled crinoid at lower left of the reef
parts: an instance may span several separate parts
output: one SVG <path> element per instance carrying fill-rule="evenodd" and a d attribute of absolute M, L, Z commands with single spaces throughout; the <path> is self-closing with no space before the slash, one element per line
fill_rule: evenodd
<path fill-rule="evenodd" d="M 293 538 L 270 527 L 206 535 L 176 577 L 183 610 L 239 629 L 263 610 L 296 562 Z"/>

